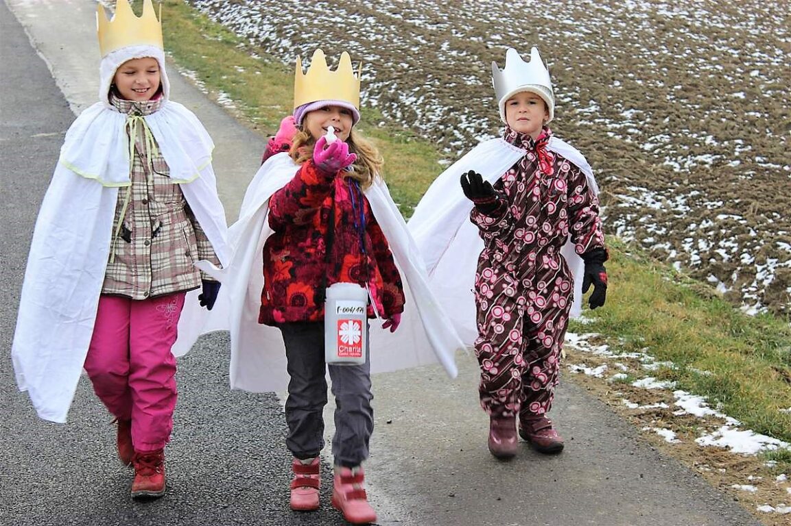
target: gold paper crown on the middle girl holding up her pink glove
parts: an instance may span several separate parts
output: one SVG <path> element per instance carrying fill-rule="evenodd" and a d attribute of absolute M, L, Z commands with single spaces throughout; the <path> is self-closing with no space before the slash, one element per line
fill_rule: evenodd
<path fill-rule="evenodd" d="M 297 57 L 294 74 L 294 109 L 316 100 L 343 100 L 360 107 L 360 70 L 354 74 L 351 58 L 346 51 L 341 54 L 338 68 L 330 71 L 324 51 L 317 49 L 310 59 L 308 73 L 302 72 L 302 59 Z"/>

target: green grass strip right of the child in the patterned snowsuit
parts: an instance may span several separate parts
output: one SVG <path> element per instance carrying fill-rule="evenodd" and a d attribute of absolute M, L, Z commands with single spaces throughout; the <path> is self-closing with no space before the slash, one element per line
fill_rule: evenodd
<path fill-rule="evenodd" d="M 600 333 L 615 352 L 645 352 L 675 368 L 658 377 L 706 396 L 744 428 L 791 442 L 791 327 L 747 316 L 616 239 L 609 240 L 607 306 L 572 330 Z"/>

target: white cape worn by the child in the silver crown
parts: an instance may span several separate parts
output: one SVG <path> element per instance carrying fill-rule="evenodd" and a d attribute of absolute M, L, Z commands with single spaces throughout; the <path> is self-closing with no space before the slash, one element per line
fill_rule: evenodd
<path fill-rule="evenodd" d="M 557 137 L 551 137 L 547 148 L 579 167 L 593 192 L 599 193 L 588 161 L 576 148 Z M 464 197 L 459 181 L 462 174 L 474 170 L 494 184 L 525 153 L 501 138 L 482 142 L 434 180 L 407 225 L 426 261 L 430 287 L 447 306 L 456 332 L 467 345 L 478 336 L 473 287 L 483 239 L 469 219 L 472 204 Z M 562 255 L 574 276 L 571 316 L 577 317 L 581 314 L 584 263 L 570 242 L 563 246 Z"/>

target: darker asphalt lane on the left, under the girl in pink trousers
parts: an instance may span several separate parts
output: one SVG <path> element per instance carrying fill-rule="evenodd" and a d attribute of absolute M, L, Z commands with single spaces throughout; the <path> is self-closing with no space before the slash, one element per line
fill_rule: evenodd
<path fill-rule="evenodd" d="M 133 472 L 115 457 L 112 417 L 85 376 L 66 425 L 38 419 L 18 392 L 10 347 L 28 246 L 74 113 L 6 3 L 0 39 L 0 524 L 344 524 L 331 509 L 297 515 L 288 508 L 280 401 L 229 390 L 225 334 L 204 337 L 180 359 L 168 494 L 158 501 L 129 498 Z"/>

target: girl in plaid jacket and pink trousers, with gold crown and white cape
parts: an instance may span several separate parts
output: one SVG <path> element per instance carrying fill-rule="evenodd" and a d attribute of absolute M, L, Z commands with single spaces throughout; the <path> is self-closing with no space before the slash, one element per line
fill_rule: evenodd
<path fill-rule="evenodd" d="M 97 9 L 100 100 L 66 133 L 41 205 L 12 355 L 20 389 L 60 423 L 85 368 L 115 417 L 119 459 L 134 466 L 131 496 L 157 498 L 176 407 L 176 329 L 187 299 L 214 306 L 219 284 L 195 263 L 225 263 L 225 212 L 214 144 L 169 100 L 151 0 L 141 17 L 127 0 L 110 21 Z"/>

